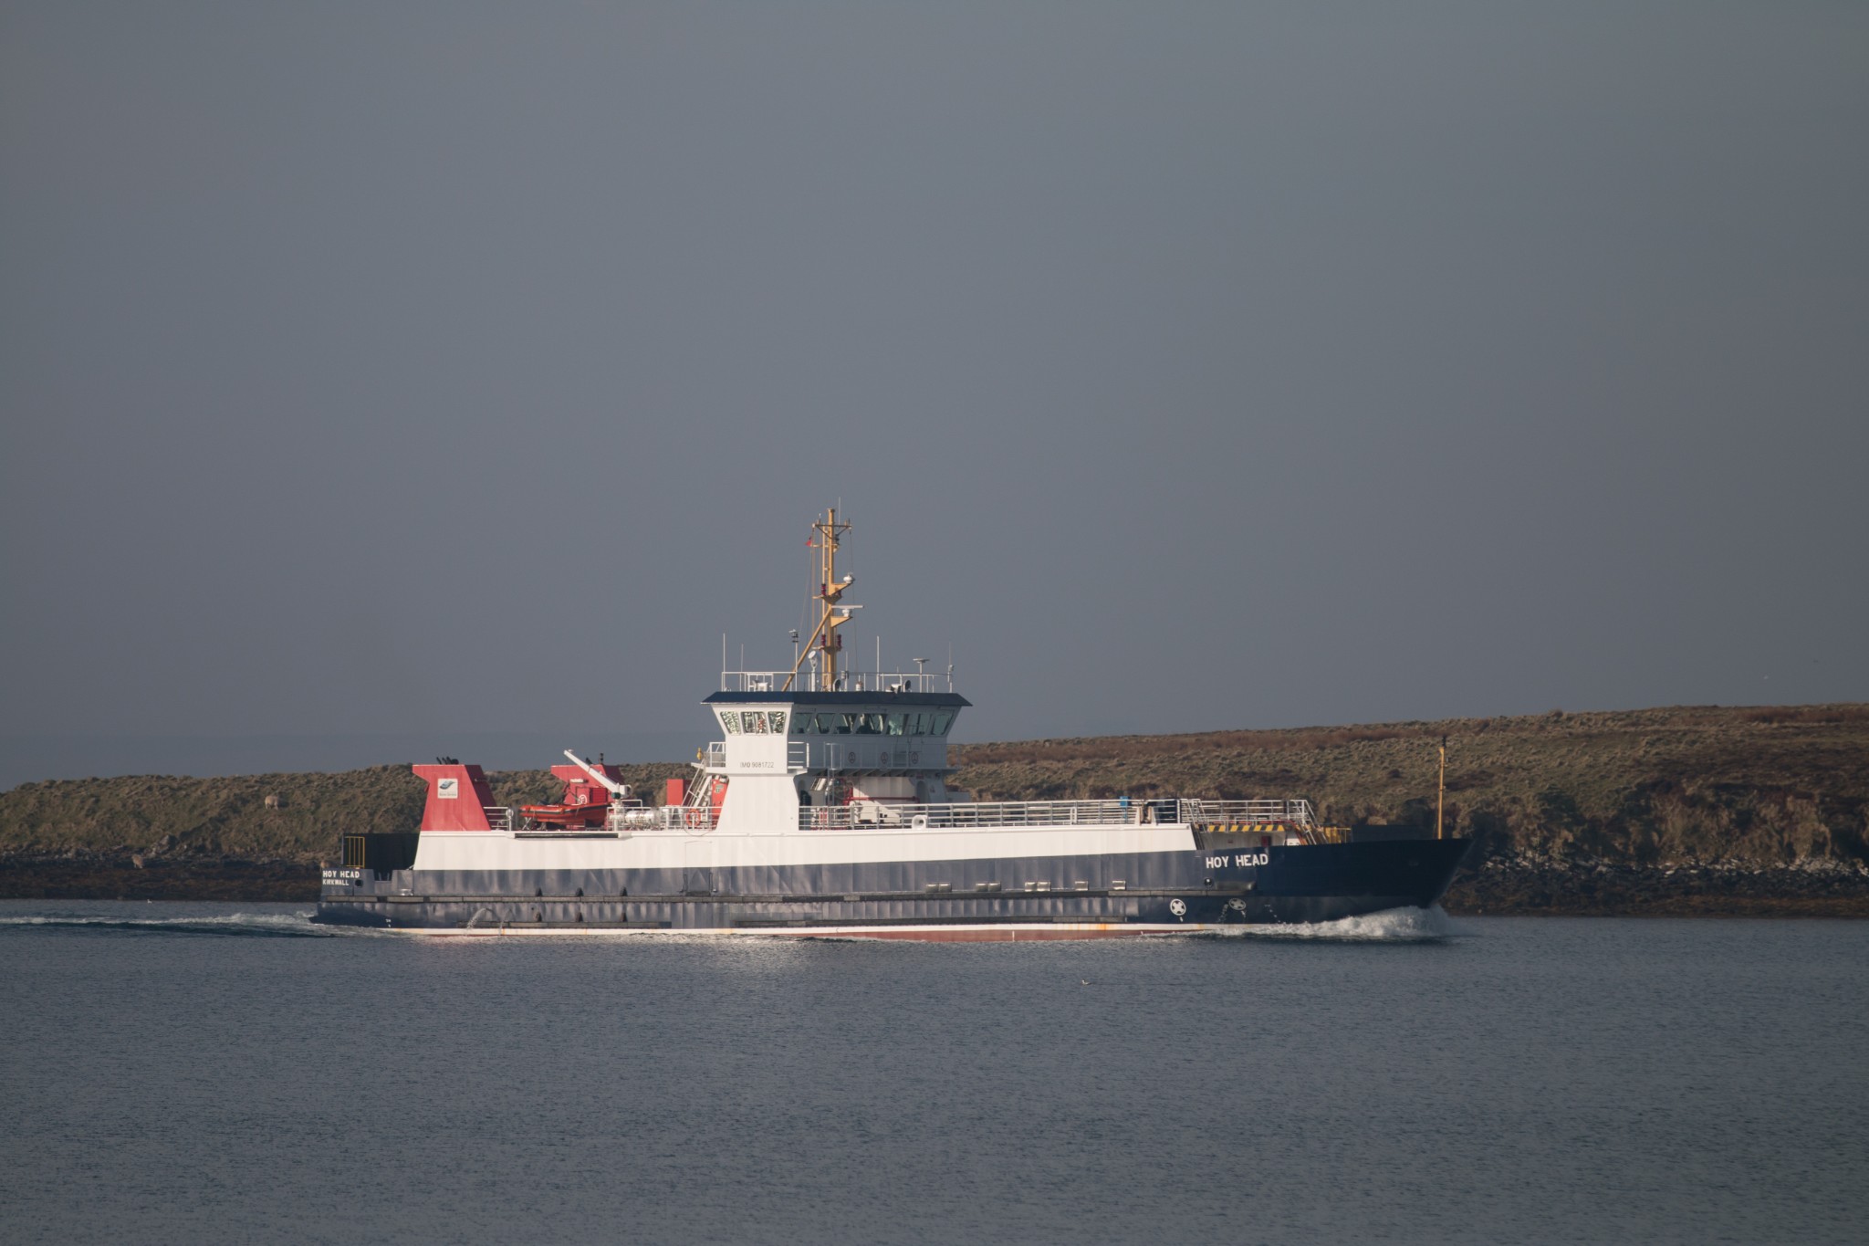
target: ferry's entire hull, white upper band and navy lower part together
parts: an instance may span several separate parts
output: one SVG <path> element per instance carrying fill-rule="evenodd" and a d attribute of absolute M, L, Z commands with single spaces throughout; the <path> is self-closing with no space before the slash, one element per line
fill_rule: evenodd
<path fill-rule="evenodd" d="M 422 835 L 411 869 L 327 871 L 318 921 L 458 936 L 1200 934 L 1426 908 L 1467 848 L 1467 841 L 1385 841 L 1239 850 L 1217 848 L 1217 837 L 1192 826 L 693 842 Z M 949 856 L 964 850 L 979 856 Z M 520 865 L 520 857 L 531 859 Z"/>

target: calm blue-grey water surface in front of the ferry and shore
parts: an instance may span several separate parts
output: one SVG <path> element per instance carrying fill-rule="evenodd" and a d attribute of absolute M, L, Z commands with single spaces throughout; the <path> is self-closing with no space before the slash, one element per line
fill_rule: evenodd
<path fill-rule="evenodd" d="M 1865 966 L 1845 921 L 424 942 L 6 902 L 0 1239 L 1860 1242 Z"/>

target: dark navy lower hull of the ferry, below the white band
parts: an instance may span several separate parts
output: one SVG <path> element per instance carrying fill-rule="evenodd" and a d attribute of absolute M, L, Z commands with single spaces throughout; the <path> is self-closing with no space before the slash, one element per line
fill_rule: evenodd
<path fill-rule="evenodd" d="M 314 921 L 432 932 L 1103 927 L 1099 934 L 1320 923 L 1441 899 L 1463 839 L 1232 846 L 1123 857 L 678 871 L 355 871 Z M 1224 844 L 1224 846 L 1222 846 Z M 1026 889 L 1045 880 L 1045 889 Z M 1039 885 L 1034 882 L 1034 887 Z M 906 930 L 905 930 L 906 932 Z M 934 938 L 940 938 L 938 934 Z M 961 938 L 955 934 L 955 938 Z M 1026 938 L 1024 934 L 1020 938 Z"/>

